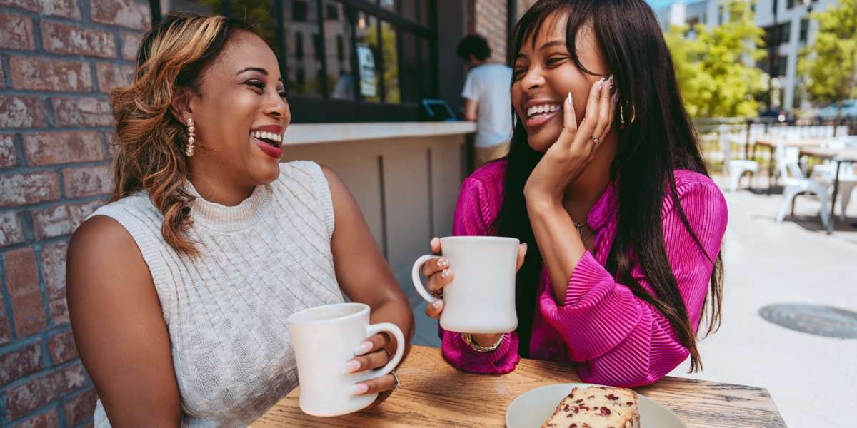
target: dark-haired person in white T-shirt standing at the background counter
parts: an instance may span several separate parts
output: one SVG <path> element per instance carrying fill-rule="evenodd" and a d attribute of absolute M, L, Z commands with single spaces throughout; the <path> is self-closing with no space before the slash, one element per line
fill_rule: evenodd
<path fill-rule="evenodd" d="M 512 139 L 512 68 L 488 62 L 491 47 L 478 34 L 461 39 L 456 51 L 470 71 L 464 80 L 464 120 L 476 122 L 475 165 L 502 158 Z"/>

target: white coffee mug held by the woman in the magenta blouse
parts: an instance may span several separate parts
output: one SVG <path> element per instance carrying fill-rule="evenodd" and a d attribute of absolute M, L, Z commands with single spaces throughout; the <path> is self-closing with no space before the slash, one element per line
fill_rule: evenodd
<path fill-rule="evenodd" d="M 443 257 L 455 274 L 443 288 L 440 327 L 462 333 L 506 333 L 518 328 L 515 312 L 515 238 L 500 236 L 447 236 L 440 238 Z M 437 300 L 420 280 L 423 264 L 437 255 L 424 255 L 414 263 L 411 276 L 417 292 L 429 304 Z"/>

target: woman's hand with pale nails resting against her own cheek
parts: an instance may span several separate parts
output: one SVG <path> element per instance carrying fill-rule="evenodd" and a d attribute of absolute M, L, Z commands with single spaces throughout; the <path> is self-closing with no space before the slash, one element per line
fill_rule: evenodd
<path fill-rule="evenodd" d="M 539 199 L 561 202 L 568 183 L 576 180 L 595 157 L 614 121 L 617 98 L 611 96 L 613 86 L 611 75 L 590 87 L 585 116 L 579 126 L 572 95 L 568 93 L 562 107 L 560 137 L 548 148 L 524 185 L 527 202 Z"/>

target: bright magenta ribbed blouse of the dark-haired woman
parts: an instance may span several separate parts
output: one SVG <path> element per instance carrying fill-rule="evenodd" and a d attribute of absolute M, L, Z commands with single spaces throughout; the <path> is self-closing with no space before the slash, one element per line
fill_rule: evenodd
<path fill-rule="evenodd" d="M 458 196 L 453 235 L 488 235 L 500 211 L 506 161 L 488 163 L 468 177 Z M 679 201 L 710 259 L 716 259 L 726 231 L 726 201 L 709 177 L 674 171 Z M 652 383 L 690 354 L 666 318 L 616 282 L 604 265 L 616 235 L 614 187 L 609 186 L 587 217 L 595 246 L 580 259 L 568 280 L 564 305 L 557 304 L 548 272 L 542 266 L 530 339 L 530 356 L 579 363 L 585 382 L 631 387 Z M 664 200 L 662 227 L 667 257 L 678 282 L 691 324 L 698 325 L 713 264 L 681 223 L 672 199 Z M 632 260 L 635 258 L 632 255 Z M 455 267 L 452 266 L 452 270 Z M 638 263 L 632 276 L 651 291 Z M 530 287 L 531 284 L 517 284 Z M 458 333 L 440 329 L 443 355 L 453 366 L 477 373 L 512 372 L 520 360 L 518 335 L 512 332 L 491 353 L 470 348 Z"/>

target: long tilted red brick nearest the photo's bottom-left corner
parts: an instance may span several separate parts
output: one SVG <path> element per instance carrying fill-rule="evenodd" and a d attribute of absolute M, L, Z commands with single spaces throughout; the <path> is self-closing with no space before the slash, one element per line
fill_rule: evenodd
<path fill-rule="evenodd" d="M 87 382 L 83 366 L 64 367 L 43 377 L 6 390 L 6 414 L 8 419 L 17 419 L 45 404 L 56 401 Z"/>

